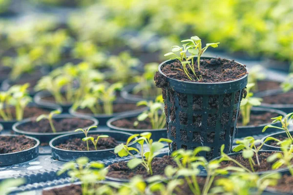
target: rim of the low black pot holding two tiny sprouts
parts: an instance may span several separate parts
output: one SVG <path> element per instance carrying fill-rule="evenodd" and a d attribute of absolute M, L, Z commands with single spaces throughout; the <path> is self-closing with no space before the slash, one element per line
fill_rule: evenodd
<path fill-rule="evenodd" d="M 128 136 L 132 136 L 133 134 L 130 134 L 130 133 L 127 133 L 127 132 L 119 132 L 119 131 L 114 131 L 114 130 L 94 130 L 94 131 L 90 131 L 88 132 L 89 134 L 91 133 L 116 133 L 116 134 L 126 134 Z M 64 149 L 60 149 L 60 148 L 56 148 L 54 145 L 53 145 L 53 141 L 61 138 L 61 137 L 66 137 L 66 136 L 73 136 L 73 135 L 84 135 L 83 132 L 75 132 L 75 133 L 70 133 L 70 134 L 64 134 L 64 135 L 60 135 L 58 137 L 54 137 L 53 139 L 50 140 L 49 142 L 49 146 L 51 147 L 51 149 L 54 149 L 54 150 L 59 150 L 59 151 L 63 151 L 63 152 L 75 152 L 75 153 L 97 153 L 97 152 L 107 152 L 107 151 L 111 151 L 111 150 L 114 150 L 114 148 L 110 148 L 110 149 L 104 149 L 104 150 L 92 150 L 92 151 L 77 151 L 77 150 L 64 150 Z M 138 138 L 135 137 L 135 140 L 137 140 Z M 134 145 L 135 143 L 131 143 L 131 144 L 128 144 L 128 146 L 131 146 L 131 145 Z"/>

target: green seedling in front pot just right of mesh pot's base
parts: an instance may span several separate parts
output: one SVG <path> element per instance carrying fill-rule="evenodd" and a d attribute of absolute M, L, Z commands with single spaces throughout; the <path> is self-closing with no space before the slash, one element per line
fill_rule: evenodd
<path fill-rule="evenodd" d="M 238 144 L 235 148 L 233 148 L 234 152 L 240 152 L 242 151 L 242 156 L 245 159 L 249 160 L 249 163 L 251 165 L 251 170 L 252 172 L 254 171 L 254 166 L 255 166 L 255 162 L 252 159 L 253 156 L 256 157 L 256 162 L 257 165 L 260 166 L 260 162 L 258 159 L 258 152 L 261 150 L 261 148 L 263 147 L 263 145 L 270 140 L 275 140 L 275 141 L 279 141 L 278 139 L 274 138 L 274 137 L 267 137 L 264 142 L 262 144 L 260 139 L 254 139 L 253 137 L 245 137 L 243 140 L 237 140 L 236 144 Z M 258 144 L 260 144 L 259 146 L 257 146 Z M 227 156 L 225 156 L 227 158 Z M 229 157 L 231 158 L 231 157 Z M 234 160 L 235 161 L 235 160 Z M 240 164 L 240 163 L 238 163 Z M 243 166 L 241 166 L 243 168 Z"/>

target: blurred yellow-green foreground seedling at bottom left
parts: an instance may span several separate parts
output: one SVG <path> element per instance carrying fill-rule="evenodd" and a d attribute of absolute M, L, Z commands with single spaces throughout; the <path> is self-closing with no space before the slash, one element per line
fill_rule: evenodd
<path fill-rule="evenodd" d="M 62 170 L 57 175 L 67 172 L 72 182 L 79 179 L 82 182 L 82 194 L 94 195 L 98 187 L 98 181 L 105 180 L 108 170 L 104 164 L 99 162 L 89 162 L 87 157 L 80 157 L 76 162 L 67 162 L 63 165 Z"/>

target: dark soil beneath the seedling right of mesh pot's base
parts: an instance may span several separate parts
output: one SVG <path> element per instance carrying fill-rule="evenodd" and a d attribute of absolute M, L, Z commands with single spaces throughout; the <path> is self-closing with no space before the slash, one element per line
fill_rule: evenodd
<path fill-rule="evenodd" d="M 252 157 L 255 165 L 253 166 L 254 171 L 255 172 L 260 172 L 260 171 L 270 171 L 272 170 L 272 164 L 273 162 L 268 162 L 267 161 L 267 157 L 271 156 L 272 154 L 274 154 L 275 152 L 272 153 L 258 153 L 258 159 L 259 159 L 259 163 L 260 166 L 257 165 L 257 161 L 256 161 L 256 157 L 255 155 Z M 243 166 L 245 166 L 247 169 L 251 170 L 251 165 L 249 163 L 248 159 L 245 159 L 241 154 L 237 155 L 237 156 L 230 156 L 233 159 L 235 159 L 237 162 L 239 162 L 240 164 L 242 164 Z M 293 162 L 293 160 L 292 160 Z M 234 162 L 231 161 L 223 161 L 221 162 L 221 168 L 225 168 L 228 166 L 235 166 L 235 167 L 239 167 L 238 165 L 236 165 Z M 281 166 L 280 168 L 285 168 L 285 166 Z"/>

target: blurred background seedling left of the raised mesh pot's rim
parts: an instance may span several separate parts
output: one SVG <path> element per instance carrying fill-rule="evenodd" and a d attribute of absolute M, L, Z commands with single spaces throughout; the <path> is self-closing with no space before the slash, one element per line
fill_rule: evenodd
<path fill-rule="evenodd" d="M 122 52 L 119 56 L 111 56 L 108 65 L 111 68 L 109 79 L 125 84 L 138 74 L 133 68 L 139 65 L 139 60 L 132 58 L 128 52 Z"/>

